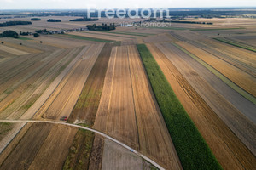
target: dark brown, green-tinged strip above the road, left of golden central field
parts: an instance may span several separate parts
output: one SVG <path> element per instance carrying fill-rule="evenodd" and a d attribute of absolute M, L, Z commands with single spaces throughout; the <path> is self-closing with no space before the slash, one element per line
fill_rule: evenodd
<path fill-rule="evenodd" d="M 112 44 L 110 43 L 106 43 L 102 48 L 68 122 L 83 122 L 88 126 L 93 125 L 102 96 L 102 88 L 111 50 Z"/>

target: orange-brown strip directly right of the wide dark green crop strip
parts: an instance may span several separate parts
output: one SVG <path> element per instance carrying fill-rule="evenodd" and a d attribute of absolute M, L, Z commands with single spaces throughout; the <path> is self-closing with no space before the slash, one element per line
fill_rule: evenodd
<path fill-rule="evenodd" d="M 196 93 L 166 55 L 154 44 L 147 46 L 221 166 L 224 169 L 252 169 L 256 159 L 250 150 Z"/>

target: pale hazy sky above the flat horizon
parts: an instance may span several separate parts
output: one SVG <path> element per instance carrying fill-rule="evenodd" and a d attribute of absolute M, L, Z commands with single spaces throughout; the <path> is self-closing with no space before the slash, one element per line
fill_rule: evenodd
<path fill-rule="evenodd" d="M 0 9 L 256 7 L 256 0 L 0 0 Z"/>

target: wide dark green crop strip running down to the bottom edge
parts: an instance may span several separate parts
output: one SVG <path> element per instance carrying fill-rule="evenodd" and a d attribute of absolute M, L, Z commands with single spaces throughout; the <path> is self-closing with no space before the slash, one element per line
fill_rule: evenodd
<path fill-rule="evenodd" d="M 222 169 L 146 45 L 137 49 L 183 169 Z"/>

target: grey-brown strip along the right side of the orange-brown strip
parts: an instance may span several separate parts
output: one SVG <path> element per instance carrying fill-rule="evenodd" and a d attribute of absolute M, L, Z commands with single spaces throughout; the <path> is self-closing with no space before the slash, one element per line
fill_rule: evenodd
<path fill-rule="evenodd" d="M 233 105 L 230 105 L 221 94 L 212 88 L 202 76 L 201 72 L 207 74 L 207 77 L 215 77 L 211 71 L 199 64 L 188 55 L 181 52 L 176 47 L 166 43 L 163 47 L 156 44 L 163 54 L 177 67 L 183 77 L 191 84 L 195 91 L 201 95 L 201 98 L 207 102 L 212 110 L 226 123 L 236 136 L 247 146 L 255 155 L 255 125 L 247 117 L 238 111 Z M 212 82 L 213 83 L 213 82 Z M 237 94 L 240 95 L 240 94 Z"/>

